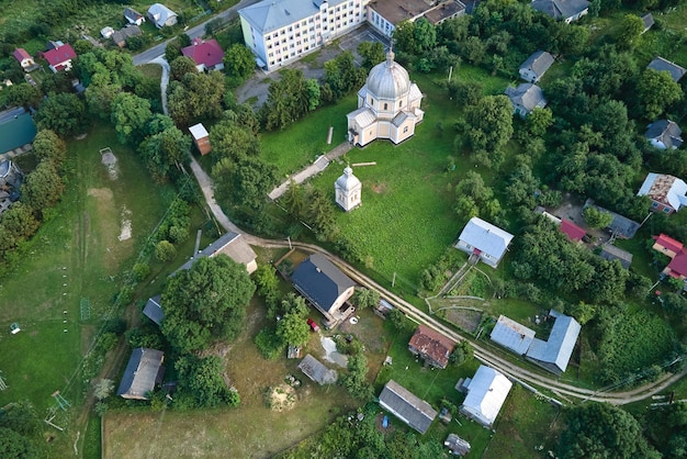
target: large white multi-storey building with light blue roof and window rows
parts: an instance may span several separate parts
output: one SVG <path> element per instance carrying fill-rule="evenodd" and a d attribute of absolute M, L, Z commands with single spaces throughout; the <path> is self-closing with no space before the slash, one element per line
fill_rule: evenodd
<path fill-rule="evenodd" d="M 238 11 L 258 65 L 273 70 L 365 22 L 369 0 L 263 0 Z"/>

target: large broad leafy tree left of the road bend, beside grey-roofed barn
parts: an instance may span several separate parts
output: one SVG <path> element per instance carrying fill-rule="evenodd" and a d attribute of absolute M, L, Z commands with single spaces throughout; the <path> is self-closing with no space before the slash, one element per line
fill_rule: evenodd
<path fill-rule="evenodd" d="M 162 292 L 162 334 L 181 352 L 234 339 L 255 289 L 244 265 L 225 255 L 200 258 L 172 276 Z"/>

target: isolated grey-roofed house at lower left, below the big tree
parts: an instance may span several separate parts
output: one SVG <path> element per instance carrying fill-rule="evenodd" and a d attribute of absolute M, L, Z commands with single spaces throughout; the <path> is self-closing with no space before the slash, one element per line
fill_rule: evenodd
<path fill-rule="evenodd" d="M 136 348 L 124 370 L 117 395 L 131 400 L 148 400 L 155 384 L 162 382 L 165 352 L 145 347 Z"/>

